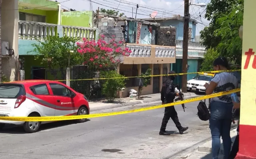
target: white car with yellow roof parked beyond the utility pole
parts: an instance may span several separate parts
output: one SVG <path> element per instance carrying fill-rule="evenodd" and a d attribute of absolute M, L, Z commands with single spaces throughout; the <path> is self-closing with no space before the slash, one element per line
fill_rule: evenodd
<path fill-rule="evenodd" d="M 198 91 L 205 92 L 205 83 L 210 83 L 214 74 L 197 74 L 192 80 L 187 81 L 187 90 L 188 91 Z"/>

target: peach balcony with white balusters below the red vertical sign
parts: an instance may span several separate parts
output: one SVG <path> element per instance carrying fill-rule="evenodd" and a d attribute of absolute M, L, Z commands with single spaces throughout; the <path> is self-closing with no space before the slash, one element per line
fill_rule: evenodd
<path fill-rule="evenodd" d="M 126 47 L 131 53 L 124 58 L 124 64 L 175 63 L 175 47 L 145 44 L 126 44 Z"/>

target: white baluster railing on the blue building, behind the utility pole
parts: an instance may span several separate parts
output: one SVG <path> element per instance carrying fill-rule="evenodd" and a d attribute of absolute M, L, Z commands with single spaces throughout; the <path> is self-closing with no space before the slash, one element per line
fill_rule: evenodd
<path fill-rule="evenodd" d="M 196 42 L 188 42 L 188 52 L 192 54 L 204 55 L 206 53 L 206 47 Z M 176 51 L 183 51 L 183 41 L 176 40 Z"/>

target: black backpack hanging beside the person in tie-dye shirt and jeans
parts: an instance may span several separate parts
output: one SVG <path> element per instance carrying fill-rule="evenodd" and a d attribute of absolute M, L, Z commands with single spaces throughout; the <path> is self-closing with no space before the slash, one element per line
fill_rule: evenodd
<path fill-rule="evenodd" d="M 199 119 L 203 120 L 203 121 L 207 121 L 210 119 L 210 106 L 211 106 L 211 99 L 209 99 L 209 108 L 207 108 L 206 104 L 205 104 L 205 99 L 204 102 L 201 100 L 197 106 L 197 110 L 198 110 L 198 117 Z"/>

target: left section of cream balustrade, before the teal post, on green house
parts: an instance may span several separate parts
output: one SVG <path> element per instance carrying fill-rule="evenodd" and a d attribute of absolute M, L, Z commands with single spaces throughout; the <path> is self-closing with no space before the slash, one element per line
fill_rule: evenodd
<path fill-rule="evenodd" d="M 44 40 L 47 36 L 56 35 L 57 25 L 30 21 L 19 21 L 19 39 Z"/>

